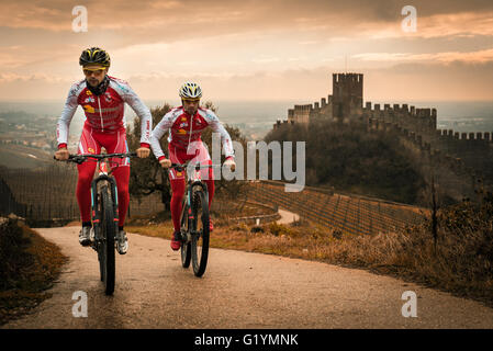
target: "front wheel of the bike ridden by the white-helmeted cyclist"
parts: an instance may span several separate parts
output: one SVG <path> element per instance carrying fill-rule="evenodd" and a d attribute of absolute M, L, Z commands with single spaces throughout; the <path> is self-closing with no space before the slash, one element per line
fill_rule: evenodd
<path fill-rule="evenodd" d="M 209 257 L 209 201 L 203 190 L 193 192 L 192 201 L 192 267 L 195 276 L 202 276 Z"/>

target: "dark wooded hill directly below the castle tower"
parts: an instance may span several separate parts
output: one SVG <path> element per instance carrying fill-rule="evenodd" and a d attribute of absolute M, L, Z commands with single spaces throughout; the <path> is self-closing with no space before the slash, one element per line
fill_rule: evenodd
<path fill-rule="evenodd" d="M 425 182 L 391 135 L 321 121 L 281 125 L 265 140 L 306 141 L 306 185 L 421 204 Z"/>

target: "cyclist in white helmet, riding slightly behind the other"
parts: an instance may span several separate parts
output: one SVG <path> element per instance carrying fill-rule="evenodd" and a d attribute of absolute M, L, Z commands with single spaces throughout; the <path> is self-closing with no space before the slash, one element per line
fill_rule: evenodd
<path fill-rule="evenodd" d="M 201 88 L 197 83 L 186 82 L 180 88 L 179 94 L 181 97 L 182 105 L 169 111 L 156 125 L 150 136 L 150 147 L 161 167 L 169 168 L 171 167 L 171 163 L 183 163 L 191 159 L 200 161 L 201 165 L 212 165 L 208 149 L 200 138 L 202 131 L 210 126 L 213 132 L 221 134 L 223 149 L 226 155 L 224 165 L 234 171 L 236 165 L 234 161 L 231 136 L 214 112 L 199 106 L 200 98 L 202 97 Z M 159 145 L 159 139 L 168 129 L 169 159 L 166 158 Z M 206 173 L 206 177 L 202 177 L 202 179 L 208 184 L 209 207 L 211 207 L 212 197 L 214 196 L 214 176 L 212 168 L 209 168 L 209 172 L 205 169 L 201 171 L 205 171 Z M 184 173 L 170 169 L 169 180 L 172 192 L 171 219 L 175 227 L 171 239 L 171 249 L 176 251 L 181 246 L 179 233 L 181 201 L 186 188 Z M 212 220 L 210 222 L 210 230 L 213 230 Z"/>

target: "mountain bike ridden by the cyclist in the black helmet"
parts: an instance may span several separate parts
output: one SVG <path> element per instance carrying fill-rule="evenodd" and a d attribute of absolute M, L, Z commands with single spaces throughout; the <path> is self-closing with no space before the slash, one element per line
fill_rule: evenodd
<path fill-rule="evenodd" d="M 91 215 L 94 238 L 91 248 L 98 252 L 99 272 L 104 293 L 112 295 L 115 285 L 115 236 L 119 229 L 116 181 L 111 174 L 117 167 L 109 167 L 110 158 L 136 157 L 137 154 L 69 155 L 68 162 L 81 165 L 98 161 L 98 177 L 91 182 Z M 114 165 L 113 165 L 114 166 Z"/>

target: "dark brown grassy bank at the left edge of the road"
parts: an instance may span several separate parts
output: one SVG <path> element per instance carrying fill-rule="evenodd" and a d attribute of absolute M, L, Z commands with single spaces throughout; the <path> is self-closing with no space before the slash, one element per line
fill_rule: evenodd
<path fill-rule="evenodd" d="M 0 236 L 3 259 L 0 286 L 2 325 L 29 313 L 49 297 L 45 291 L 57 279 L 67 258 L 57 246 L 15 220 L 2 225 Z"/>

